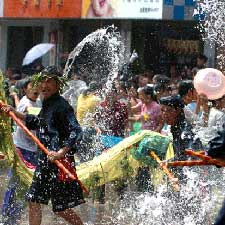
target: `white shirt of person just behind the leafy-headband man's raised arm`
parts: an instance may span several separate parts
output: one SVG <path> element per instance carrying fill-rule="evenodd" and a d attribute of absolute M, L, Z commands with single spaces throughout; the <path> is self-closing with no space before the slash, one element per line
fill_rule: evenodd
<path fill-rule="evenodd" d="M 26 112 L 27 107 L 41 107 L 41 102 L 37 100 L 36 102 L 31 101 L 27 98 L 27 96 L 24 96 L 21 100 L 19 105 L 17 106 L 18 112 Z M 31 131 L 34 135 L 36 135 L 35 131 Z M 34 141 L 31 140 L 30 137 L 27 136 L 27 134 L 17 126 L 16 132 L 13 134 L 13 142 L 14 144 L 22 149 L 35 152 L 37 151 L 37 145 L 34 143 Z"/>

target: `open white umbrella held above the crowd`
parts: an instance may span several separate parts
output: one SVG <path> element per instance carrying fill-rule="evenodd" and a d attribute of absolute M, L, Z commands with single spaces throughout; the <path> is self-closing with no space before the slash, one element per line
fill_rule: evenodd
<path fill-rule="evenodd" d="M 42 43 L 35 45 L 31 48 L 23 59 L 23 66 L 32 63 L 35 59 L 46 54 L 50 49 L 52 49 L 55 45 L 49 43 Z"/>

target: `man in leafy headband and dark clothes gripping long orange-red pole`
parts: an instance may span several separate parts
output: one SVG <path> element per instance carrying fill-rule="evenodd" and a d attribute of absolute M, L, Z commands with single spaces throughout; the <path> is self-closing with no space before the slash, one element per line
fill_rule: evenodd
<path fill-rule="evenodd" d="M 26 195 L 29 224 L 41 224 L 41 204 L 48 204 L 51 200 L 53 212 L 70 224 L 81 225 L 80 217 L 72 208 L 84 203 L 82 189 L 76 180 L 60 174 L 53 162 L 66 158 L 70 169 L 74 167 L 73 146 L 80 140 L 82 130 L 72 107 L 59 94 L 65 79 L 55 67 L 47 67 L 35 75 L 34 83 L 40 87 L 43 98 L 41 112 L 38 116 L 16 111 L 15 114 L 26 122 L 29 129 L 37 130 L 38 138 L 49 149 L 50 155 L 39 152 L 33 181 Z"/>

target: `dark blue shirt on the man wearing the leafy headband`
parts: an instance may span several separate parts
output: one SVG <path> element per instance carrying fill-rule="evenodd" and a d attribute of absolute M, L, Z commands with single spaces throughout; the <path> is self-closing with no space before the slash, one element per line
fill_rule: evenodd
<path fill-rule="evenodd" d="M 43 101 L 38 116 L 27 115 L 26 126 L 37 130 L 37 137 L 49 151 L 69 147 L 68 155 L 74 153 L 73 146 L 81 139 L 82 129 L 75 118 L 73 108 L 59 94 Z M 41 154 L 46 158 L 45 154 Z"/>

